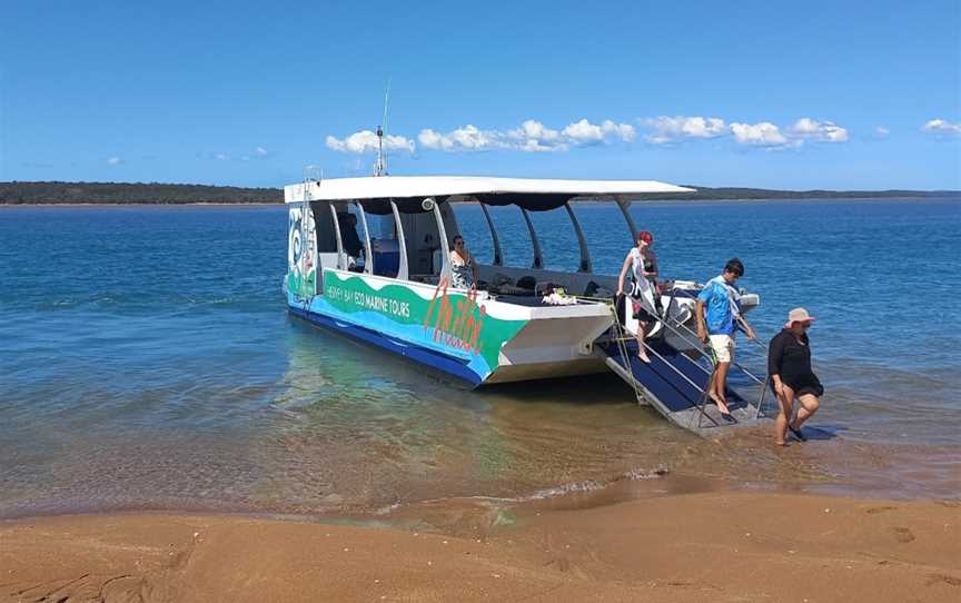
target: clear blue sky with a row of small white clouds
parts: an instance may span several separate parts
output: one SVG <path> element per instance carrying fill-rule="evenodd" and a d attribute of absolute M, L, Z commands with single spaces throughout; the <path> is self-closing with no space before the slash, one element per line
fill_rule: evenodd
<path fill-rule="evenodd" d="M 959 7 L 0 0 L 0 180 L 961 189 Z"/>

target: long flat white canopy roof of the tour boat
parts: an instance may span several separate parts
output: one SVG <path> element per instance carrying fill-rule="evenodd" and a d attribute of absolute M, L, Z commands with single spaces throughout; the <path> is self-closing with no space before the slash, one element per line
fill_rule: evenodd
<path fill-rule="evenodd" d="M 517 205 L 532 211 L 563 206 L 573 198 L 636 197 L 662 192 L 695 192 L 693 188 L 656 180 L 559 180 L 538 178 L 488 178 L 484 176 L 371 176 L 310 180 L 284 187 L 286 202 L 361 201 L 380 212 L 377 206 L 398 201 L 417 211 L 420 199 L 437 201 L 473 197 L 486 205 Z M 416 204 L 399 202 L 413 200 Z M 365 202 L 370 201 L 370 204 Z M 389 209 L 384 208 L 385 212 Z"/>

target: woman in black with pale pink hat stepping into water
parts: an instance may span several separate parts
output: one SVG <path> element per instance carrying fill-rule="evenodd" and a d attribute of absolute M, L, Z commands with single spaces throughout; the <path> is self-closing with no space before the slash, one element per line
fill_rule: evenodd
<path fill-rule="evenodd" d="M 808 329 L 814 317 L 804 308 L 787 313 L 784 328 L 771 339 L 767 348 L 767 375 L 777 396 L 779 413 L 774 422 L 774 443 L 784 446 L 790 429 L 801 442 L 806 441 L 801 425 L 818 412 L 824 387 L 811 369 L 811 342 Z M 794 398 L 801 408 L 792 421 Z"/>

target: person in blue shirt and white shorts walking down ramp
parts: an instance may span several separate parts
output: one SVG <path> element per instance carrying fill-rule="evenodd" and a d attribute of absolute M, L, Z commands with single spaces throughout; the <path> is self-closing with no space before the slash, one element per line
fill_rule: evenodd
<path fill-rule="evenodd" d="M 743 327 L 749 339 L 754 338 L 754 329 L 741 316 L 737 306 L 740 295 L 734 288 L 734 284 L 743 275 L 744 265 L 741 260 L 730 259 L 721 276 L 709 280 L 697 294 L 697 337 L 704 343 L 710 343 L 716 365 L 711 383 L 707 384 L 707 395 L 717 405 L 724 418 L 731 417 L 731 409 L 727 408 L 727 372 L 731 369 L 731 363 L 734 362 L 734 336 L 737 325 Z"/>

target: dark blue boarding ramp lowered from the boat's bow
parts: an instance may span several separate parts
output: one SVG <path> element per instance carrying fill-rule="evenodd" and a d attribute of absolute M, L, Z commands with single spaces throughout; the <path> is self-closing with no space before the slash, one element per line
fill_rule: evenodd
<path fill-rule="evenodd" d="M 640 404 L 650 405 L 674 425 L 705 437 L 759 422 L 767 389 L 766 380 L 739 363 L 732 363 L 726 387 L 731 419 L 725 419 L 707 397 L 707 385 L 713 376 L 712 372 L 716 368 L 713 359 L 711 368 L 706 368 L 663 338 L 651 338 L 644 342 L 651 359 L 645 363 L 637 357 L 637 342 L 632 334 L 624 330 L 621 317 L 613 306 L 612 312 L 615 317 L 614 325 L 607 338 L 598 340 L 596 346 L 607 356 L 607 366 L 632 386 Z M 664 315 L 670 316 L 667 312 Z M 687 327 L 672 323 L 670 319 L 662 320 L 664 330 L 688 342 L 695 349 L 701 347 L 696 335 Z M 732 386 L 732 383 L 736 382 L 761 387 L 756 404 L 749 402 L 746 391 L 742 393 Z"/>

